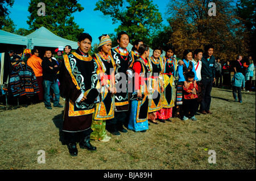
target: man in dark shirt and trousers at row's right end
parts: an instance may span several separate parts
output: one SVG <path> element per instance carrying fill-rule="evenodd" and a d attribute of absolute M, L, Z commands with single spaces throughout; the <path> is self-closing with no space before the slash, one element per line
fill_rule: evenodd
<path fill-rule="evenodd" d="M 212 114 L 210 112 L 210 102 L 212 97 L 210 96 L 210 92 L 212 91 L 213 82 L 215 82 L 215 57 L 213 54 L 213 46 L 206 45 L 204 47 L 204 55 L 201 59 L 202 68 L 201 68 L 201 82 L 203 84 L 202 87 L 202 101 L 200 104 L 200 112 L 203 114 Z"/>

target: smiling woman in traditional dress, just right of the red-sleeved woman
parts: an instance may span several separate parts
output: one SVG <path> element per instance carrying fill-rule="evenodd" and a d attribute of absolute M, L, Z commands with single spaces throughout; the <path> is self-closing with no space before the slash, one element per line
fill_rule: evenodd
<path fill-rule="evenodd" d="M 153 55 L 148 58 L 151 64 L 151 76 L 150 76 L 150 91 L 149 96 L 149 111 L 148 111 L 148 121 L 154 124 L 158 124 L 156 119 L 156 111 L 162 108 L 162 92 L 164 91 L 164 82 L 162 77 L 163 71 L 163 59 L 161 56 L 162 48 L 156 47 L 153 50 Z"/>

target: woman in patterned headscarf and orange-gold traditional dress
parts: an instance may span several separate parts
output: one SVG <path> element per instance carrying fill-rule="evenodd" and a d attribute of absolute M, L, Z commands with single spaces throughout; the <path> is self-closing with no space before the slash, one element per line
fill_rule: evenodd
<path fill-rule="evenodd" d="M 99 52 L 93 54 L 92 57 L 97 64 L 98 78 L 101 79 L 97 88 L 100 89 L 102 101 L 95 107 L 96 111 L 92 121 L 93 133 L 90 135 L 90 139 L 108 142 L 111 137 L 106 134 L 106 121 L 114 118 L 115 63 L 112 56 L 109 56 L 112 48 L 112 40 L 109 35 L 102 35 L 99 39 Z"/>

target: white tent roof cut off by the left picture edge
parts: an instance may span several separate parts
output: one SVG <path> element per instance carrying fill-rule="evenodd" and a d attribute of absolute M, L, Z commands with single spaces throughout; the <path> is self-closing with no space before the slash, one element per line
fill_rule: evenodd
<path fill-rule="evenodd" d="M 14 33 L 0 30 L 0 43 L 27 46 L 28 40 L 25 36 L 20 36 Z"/>

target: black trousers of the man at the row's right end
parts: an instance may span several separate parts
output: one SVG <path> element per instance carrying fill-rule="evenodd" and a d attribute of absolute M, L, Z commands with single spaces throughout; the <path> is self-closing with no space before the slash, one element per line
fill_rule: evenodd
<path fill-rule="evenodd" d="M 212 100 L 212 96 L 210 96 L 210 92 L 212 91 L 213 78 L 202 78 L 202 101 L 200 104 L 200 111 L 209 111 L 210 110 L 210 102 Z"/>

